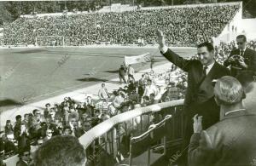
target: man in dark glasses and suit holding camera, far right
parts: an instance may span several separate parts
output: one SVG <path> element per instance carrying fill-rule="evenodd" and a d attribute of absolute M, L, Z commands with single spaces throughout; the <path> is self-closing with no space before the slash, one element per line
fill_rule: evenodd
<path fill-rule="evenodd" d="M 239 72 L 244 70 L 256 73 L 256 52 L 247 48 L 247 37 L 239 35 L 236 37 L 238 49 L 233 49 L 224 66 L 231 66 L 231 75 L 236 77 Z"/>

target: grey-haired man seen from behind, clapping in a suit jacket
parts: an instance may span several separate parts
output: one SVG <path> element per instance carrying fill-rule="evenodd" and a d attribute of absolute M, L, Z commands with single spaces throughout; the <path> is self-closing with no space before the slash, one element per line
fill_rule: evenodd
<path fill-rule="evenodd" d="M 189 166 L 255 165 L 256 115 L 242 104 L 244 91 L 235 77 L 221 77 L 214 88 L 220 106 L 220 122 L 202 130 L 194 117 L 189 145 Z"/>

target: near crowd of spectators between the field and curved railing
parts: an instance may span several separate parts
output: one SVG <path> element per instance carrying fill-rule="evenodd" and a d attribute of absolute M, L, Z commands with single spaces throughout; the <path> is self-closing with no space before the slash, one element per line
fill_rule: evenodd
<path fill-rule="evenodd" d="M 156 82 L 160 82 L 160 86 Z M 183 99 L 186 79 L 173 66 L 168 72 L 144 73 L 136 82 L 131 79 L 123 85 L 123 88 L 117 86 L 116 90 L 108 92 L 108 87 L 102 83 L 97 96 L 87 95 L 83 102 L 66 97 L 58 104 L 46 103 L 44 110 L 35 109 L 22 117 L 15 115 L 15 122 L 6 121 L 0 139 L 1 158 L 32 154 L 55 135 L 79 138 L 96 124 L 135 107 Z"/>

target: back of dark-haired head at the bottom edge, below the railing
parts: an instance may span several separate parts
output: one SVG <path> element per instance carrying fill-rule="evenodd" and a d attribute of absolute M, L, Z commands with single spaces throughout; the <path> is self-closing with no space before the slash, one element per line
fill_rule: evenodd
<path fill-rule="evenodd" d="M 38 148 L 33 159 L 40 166 L 79 166 L 85 162 L 85 150 L 76 137 L 55 136 Z"/>

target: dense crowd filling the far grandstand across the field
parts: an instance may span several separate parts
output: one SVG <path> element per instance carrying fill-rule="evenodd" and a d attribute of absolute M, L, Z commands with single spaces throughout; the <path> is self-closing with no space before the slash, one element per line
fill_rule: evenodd
<path fill-rule="evenodd" d="M 239 5 L 212 5 L 19 18 L 4 27 L 5 45 L 84 45 L 155 43 L 155 30 L 183 46 L 210 41 L 233 19 Z"/>

